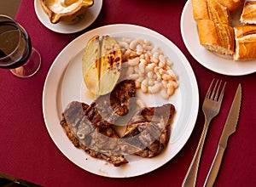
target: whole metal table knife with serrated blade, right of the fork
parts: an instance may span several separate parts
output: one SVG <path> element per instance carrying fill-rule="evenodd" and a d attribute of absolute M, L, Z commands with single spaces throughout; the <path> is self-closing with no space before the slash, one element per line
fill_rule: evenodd
<path fill-rule="evenodd" d="M 240 107 L 241 107 L 241 83 L 238 85 L 238 88 L 236 89 L 236 95 L 230 107 L 229 116 L 226 119 L 224 130 L 218 142 L 218 150 L 216 151 L 214 160 L 212 161 L 212 166 L 210 168 L 209 173 L 207 174 L 207 179 L 204 186 L 207 186 L 207 187 L 213 186 L 215 179 L 217 178 L 218 170 L 224 156 L 224 150 L 227 147 L 230 135 L 236 132 L 236 126 L 238 123 Z"/>

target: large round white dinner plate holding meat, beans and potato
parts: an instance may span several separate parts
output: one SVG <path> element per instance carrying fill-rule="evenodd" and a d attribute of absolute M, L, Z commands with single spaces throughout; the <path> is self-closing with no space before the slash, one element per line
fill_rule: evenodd
<path fill-rule="evenodd" d="M 172 70 L 177 74 L 179 88 L 171 99 L 161 99 L 160 95 L 154 95 L 152 99 L 152 95 L 137 91 L 137 97 L 148 106 L 171 102 L 176 107 L 172 122 L 171 139 L 166 149 L 159 156 L 151 159 L 125 156 L 129 161 L 128 164 L 113 167 L 112 164 L 92 158 L 83 150 L 75 148 L 62 129 L 60 125 L 61 112 L 68 103 L 73 100 L 82 101 L 86 104 L 92 102 L 92 99 L 87 98 L 84 94 L 86 93 L 86 87 L 82 76 L 82 54 L 86 43 L 95 35 L 109 35 L 117 41 L 122 37 L 146 39 L 151 41 L 154 47 L 159 47 L 172 60 Z M 90 173 L 111 178 L 127 178 L 148 173 L 170 161 L 189 139 L 195 126 L 198 107 L 198 86 L 188 60 L 166 37 L 142 26 L 123 24 L 102 26 L 77 37 L 56 57 L 44 84 L 44 121 L 51 139 L 61 152 L 77 166 Z"/>

